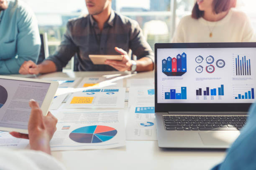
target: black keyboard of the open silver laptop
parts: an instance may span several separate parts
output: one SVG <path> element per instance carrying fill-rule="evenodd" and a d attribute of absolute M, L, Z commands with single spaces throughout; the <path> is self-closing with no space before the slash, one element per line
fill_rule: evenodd
<path fill-rule="evenodd" d="M 163 116 L 166 130 L 241 130 L 247 116 Z"/>

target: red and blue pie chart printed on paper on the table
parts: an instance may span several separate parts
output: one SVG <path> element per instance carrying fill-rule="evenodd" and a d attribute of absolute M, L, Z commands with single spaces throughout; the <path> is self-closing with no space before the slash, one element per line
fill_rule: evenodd
<path fill-rule="evenodd" d="M 117 130 L 108 126 L 85 126 L 73 130 L 69 138 L 78 143 L 102 143 L 112 139 Z"/>

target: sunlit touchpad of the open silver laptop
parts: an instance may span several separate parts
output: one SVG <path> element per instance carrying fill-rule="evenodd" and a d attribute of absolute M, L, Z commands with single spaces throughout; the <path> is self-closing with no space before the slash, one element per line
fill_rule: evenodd
<path fill-rule="evenodd" d="M 214 132 L 200 132 L 199 133 L 204 145 L 230 145 L 240 135 L 237 131 L 214 131 Z"/>

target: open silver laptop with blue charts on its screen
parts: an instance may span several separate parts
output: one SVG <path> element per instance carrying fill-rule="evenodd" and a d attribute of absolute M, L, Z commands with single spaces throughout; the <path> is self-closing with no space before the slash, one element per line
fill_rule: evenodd
<path fill-rule="evenodd" d="M 256 43 L 156 43 L 160 148 L 229 148 L 255 102 Z"/>

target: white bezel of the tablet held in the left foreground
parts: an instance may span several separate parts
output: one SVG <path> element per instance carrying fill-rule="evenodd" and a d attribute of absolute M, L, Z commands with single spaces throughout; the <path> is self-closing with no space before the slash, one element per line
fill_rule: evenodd
<path fill-rule="evenodd" d="M 44 97 L 44 101 L 41 105 L 41 110 L 43 112 L 43 115 L 46 116 L 51 102 L 54 98 L 54 95 L 57 91 L 57 88 L 59 86 L 59 83 L 56 81 L 49 81 L 49 80 L 39 80 L 39 79 L 31 79 L 31 78 L 22 78 L 22 77 L 8 77 L 8 76 L 1 76 L 0 75 L 0 79 L 7 79 L 7 80 L 20 80 L 20 81 L 29 81 L 29 82 L 42 82 L 42 83 L 49 83 L 49 89 L 46 93 L 46 96 Z M 1 127 L 0 126 L 0 130 L 2 131 L 8 131 L 8 132 L 19 132 L 19 133 L 26 133 L 28 134 L 28 129 L 18 129 L 18 128 L 6 128 L 6 127 Z"/>

